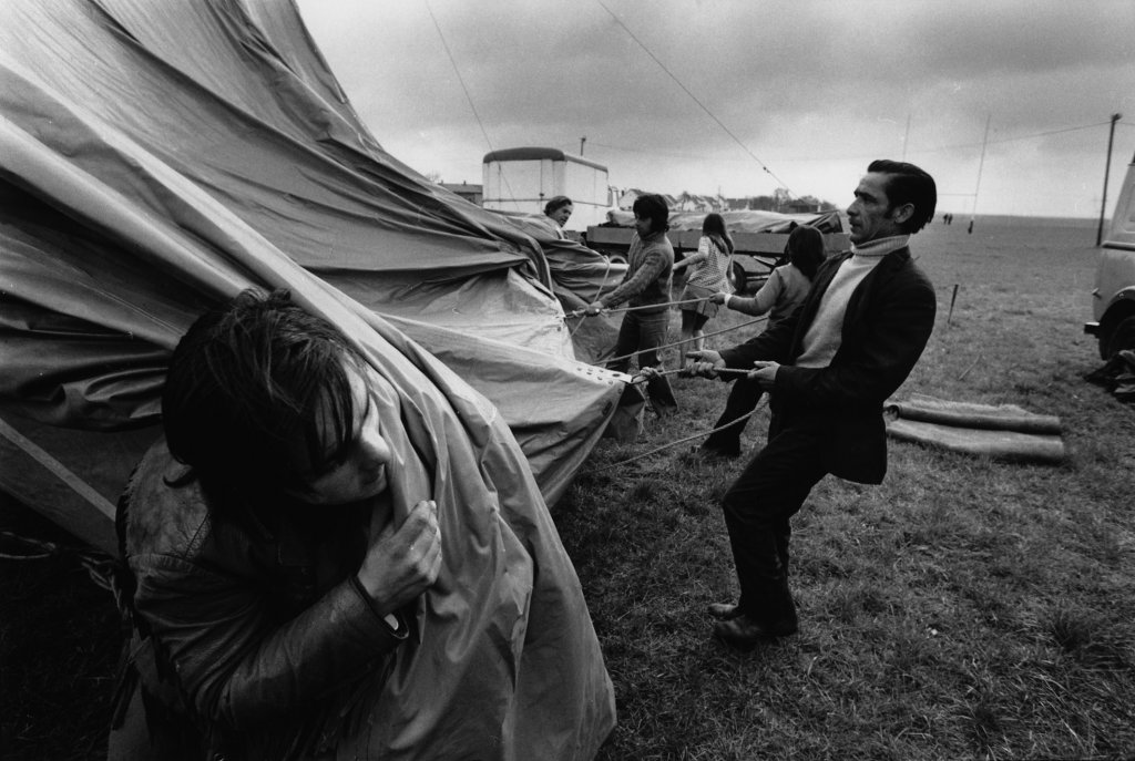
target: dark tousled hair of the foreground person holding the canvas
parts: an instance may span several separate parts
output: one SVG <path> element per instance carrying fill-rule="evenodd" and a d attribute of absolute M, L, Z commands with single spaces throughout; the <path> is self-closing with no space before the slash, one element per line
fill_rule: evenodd
<path fill-rule="evenodd" d="M 245 291 L 193 323 L 169 363 L 162 423 L 215 515 L 241 519 L 343 460 L 354 439 L 352 365 L 365 366 L 286 290 Z"/>

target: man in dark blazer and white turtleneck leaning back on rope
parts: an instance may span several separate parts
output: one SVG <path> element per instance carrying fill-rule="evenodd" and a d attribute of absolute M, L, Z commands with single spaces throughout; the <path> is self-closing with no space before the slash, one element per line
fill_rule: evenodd
<path fill-rule="evenodd" d="M 797 631 L 789 521 L 831 473 L 881 483 L 883 401 L 906 380 L 934 327 L 934 288 L 907 243 L 934 217 L 934 179 L 878 160 L 848 208 L 851 251 L 821 265 L 804 304 L 756 338 L 697 353 L 691 374 L 750 370 L 772 394 L 768 443 L 722 499 L 741 597 L 714 603 L 714 634 L 735 648 Z"/>

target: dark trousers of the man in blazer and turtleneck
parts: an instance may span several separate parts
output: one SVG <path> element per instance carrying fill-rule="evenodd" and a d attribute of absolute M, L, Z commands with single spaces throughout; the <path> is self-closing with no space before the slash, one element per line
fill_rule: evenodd
<path fill-rule="evenodd" d="M 762 623 L 796 609 L 788 590 L 791 518 L 827 471 L 816 457 L 815 426 L 770 432 L 768 443 L 737 479 L 722 506 L 741 585 L 741 610 Z"/>

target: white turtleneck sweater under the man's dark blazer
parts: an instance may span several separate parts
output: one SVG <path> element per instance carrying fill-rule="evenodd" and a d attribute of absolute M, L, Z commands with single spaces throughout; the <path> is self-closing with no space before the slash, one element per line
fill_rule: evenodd
<path fill-rule="evenodd" d="M 851 294 L 886 254 L 902 248 L 909 240 L 909 235 L 896 235 L 861 246 L 851 245 L 851 257 L 840 264 L 819 299 L 816 318 L 804 335 L 802 352 L 793 363 L 797 367 L 826 367 L 832 363 L 843 339 L 843 315 Z"/>

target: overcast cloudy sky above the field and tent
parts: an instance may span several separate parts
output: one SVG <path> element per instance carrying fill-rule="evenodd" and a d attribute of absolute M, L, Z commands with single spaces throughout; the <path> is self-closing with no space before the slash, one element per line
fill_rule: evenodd
<path fill-rule="evenodd" d="M 1096 217 L 1112 113 L 1109 215 L 1135 153 L 1135 0 L 300 8 L 382 146 L 447 183 L 480 183 L 490 150 L 586 137 L 621 188 L 846 205 L 872 159 L 905 158 L 942 211 L 976 192 L 978 214 Z"/>

